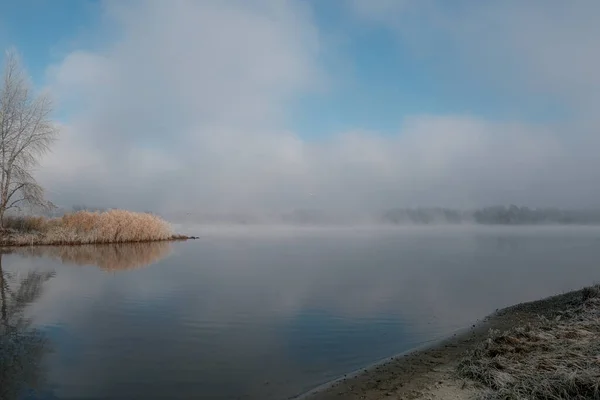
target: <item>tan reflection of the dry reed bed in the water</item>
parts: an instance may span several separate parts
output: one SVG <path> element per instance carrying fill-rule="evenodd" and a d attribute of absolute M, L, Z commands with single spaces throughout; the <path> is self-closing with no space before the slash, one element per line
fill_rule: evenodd
<path fill-rule="evenodd" d="M 14 249 L 28 257 L 51 257 L 65 264 L 96 265 L 103 270 L 140 268 L 165 258 L 171 252 L 169 242 L 123 243 L 79 246 L 31 246 Z"/>

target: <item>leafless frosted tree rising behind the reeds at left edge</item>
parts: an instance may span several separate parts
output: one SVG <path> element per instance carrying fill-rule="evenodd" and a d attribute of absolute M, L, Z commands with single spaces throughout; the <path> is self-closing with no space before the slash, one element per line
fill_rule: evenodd
<path fill-rule="evenodd" d="M 32 174 L 58 136 L 58 128 L 50 120 L 50 99 L 33 93 L 14 50 L 6 52 L 1 85 L 0 228 L 10 209 L 50 204 Z"/>

